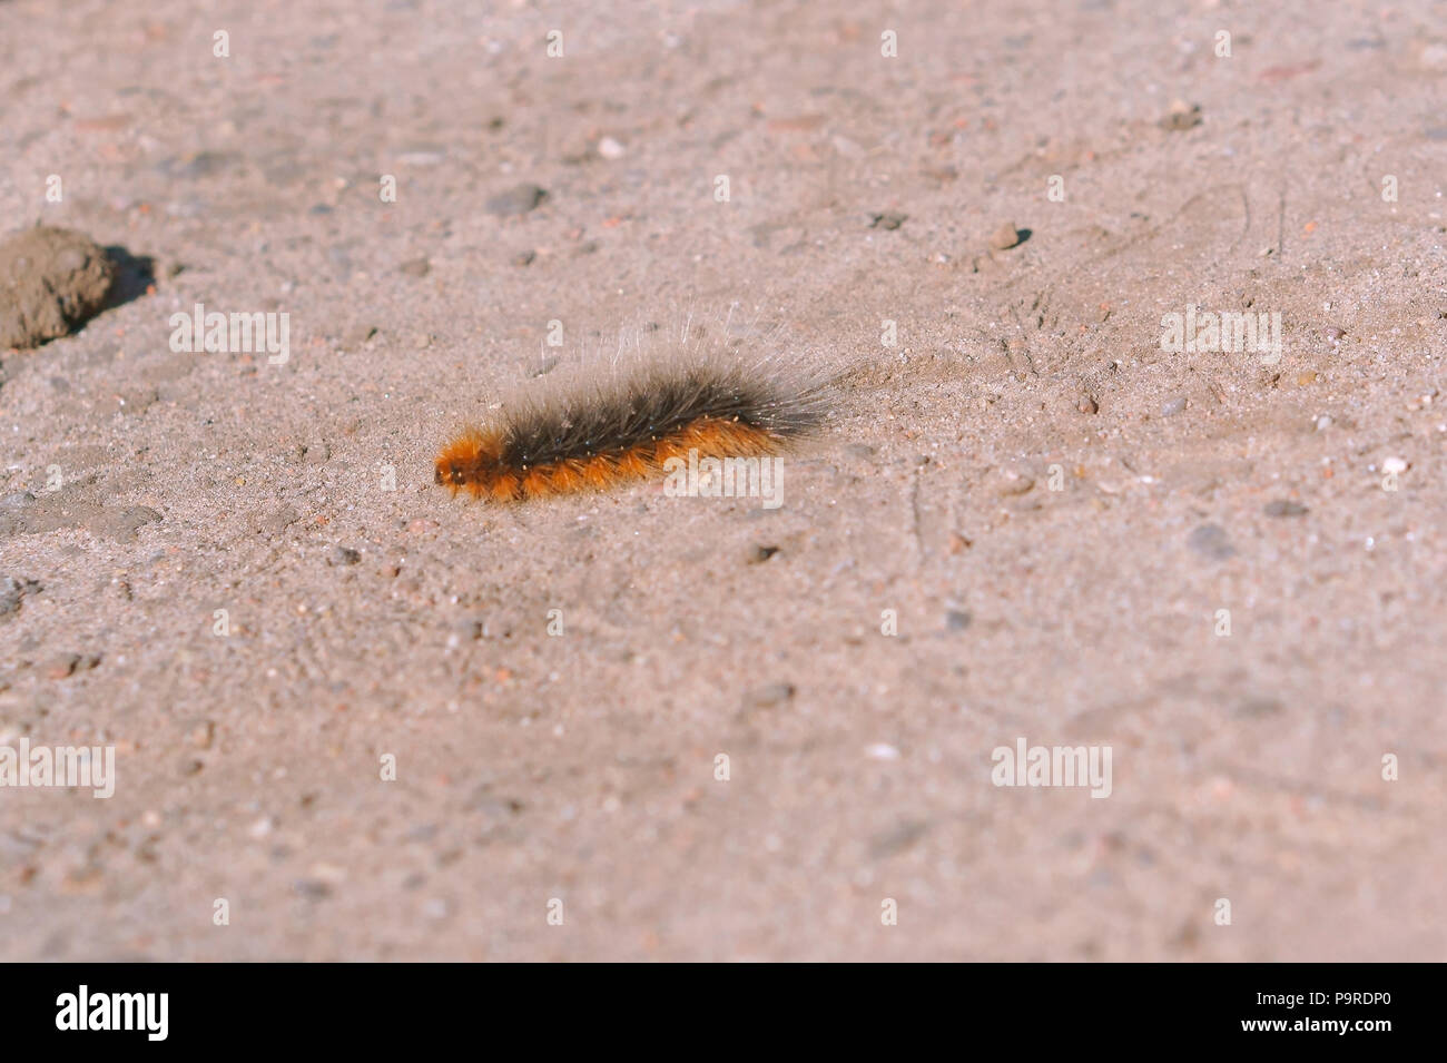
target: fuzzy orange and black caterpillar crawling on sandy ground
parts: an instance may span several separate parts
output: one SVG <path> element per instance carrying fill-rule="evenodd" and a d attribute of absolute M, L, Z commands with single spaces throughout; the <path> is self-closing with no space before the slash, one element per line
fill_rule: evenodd
<path fill-rule="evenodd" d="M 823 396 L 767 362 L 687 356 L 635 362 L 602 380 L 521 396 L 437 454 L 436 482 L 495 502 L 605 490 L 657 473 L 690 450 L 763 457 L 810 432 Z"/>

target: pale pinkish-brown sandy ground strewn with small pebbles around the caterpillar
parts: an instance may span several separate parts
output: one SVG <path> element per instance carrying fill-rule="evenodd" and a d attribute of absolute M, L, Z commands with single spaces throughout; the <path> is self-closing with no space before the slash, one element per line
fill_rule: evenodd
<path fill-rule="evenodd" d="M 1441 3 L 0 3 L 4 229 L 153 266 L 0 353 L 0 745 L 117 775 L 0 956 L 1443 959 L 1444 94 Z M 431 483 L 690 315 L 842 367 L 781 508 Z"/>

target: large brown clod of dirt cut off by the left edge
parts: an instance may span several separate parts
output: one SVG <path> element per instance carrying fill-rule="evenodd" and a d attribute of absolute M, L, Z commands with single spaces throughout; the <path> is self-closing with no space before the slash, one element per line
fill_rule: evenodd
<path fill-rule="evenodd" d="M 39 347 L 106 305 L 116 263 L 81 233 L 36 226 L 0 243 L 0 347 Z"/>

